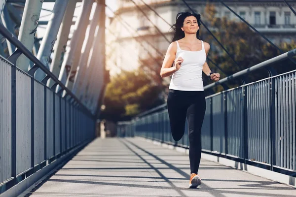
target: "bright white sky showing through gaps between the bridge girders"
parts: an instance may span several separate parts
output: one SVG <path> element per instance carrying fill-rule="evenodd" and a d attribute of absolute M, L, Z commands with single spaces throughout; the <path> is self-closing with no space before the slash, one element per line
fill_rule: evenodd
<path fill-rule="evenodd" d="M 110 6 L 113 11 L 115 11 L 117 9 L 116 0 L 106 0 L 106 4 L 108 6 Z M 81 2 L 76 3 L 76 8 L 74 11 L 74 16 L 76 16 L 76 17 L 79 16 L 79 14 L 81 13 L 82 7 L 79 5 L 81 5 Z M 53 6 L 54 6 L 54 2 L 43 2 L 43 4 L 42 4 L 42 8 L 49 9 L 49 10 L 52 10 Z M 95 6 L 93 6 L 92 8 L 94 10 Z M 51 12 L 49 12 L 49 11 L 41 10 L 39 21 L 48 21 L 50 19 L 50 13 Z M 90 19 L 92 18 L 92 14 L 93 14 L 93 11 L 91 12 Z M 109 9 L 106 9 L 106 16 L 112 17 L 113 13 Z M 72 28 L 73 28 L 73 26 L 72 26 Z M 46 25 L 39 25 L 37 28 L 37 37 L 38 38 L 43 37 L 45 31 L 46 31 Z"/>

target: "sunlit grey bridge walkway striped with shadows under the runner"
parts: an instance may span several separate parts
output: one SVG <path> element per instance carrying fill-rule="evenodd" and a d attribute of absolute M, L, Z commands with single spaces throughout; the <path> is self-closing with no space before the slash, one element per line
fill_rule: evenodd
<path fill-rule="evenodd" d="M 185 153 L 142 138 L 95 139 L 28 196 L 295 197 L 296 189 L 201 161 L 202 184 L 189 189 Z"/>

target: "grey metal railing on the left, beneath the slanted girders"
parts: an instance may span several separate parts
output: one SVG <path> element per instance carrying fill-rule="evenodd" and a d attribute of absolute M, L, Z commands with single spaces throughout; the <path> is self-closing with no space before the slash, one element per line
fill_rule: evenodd
<path fill-rule="evenodd" d="M 0 57 L 0 194 L 7 194 L 92 140 L 96 117 L 2 25 L 0 33 L 17 48 L 8 60 Z M 35 64 L 28 73 L 15 66 L 21 54 Z M 33 77 L 38 68 L 47 74 L 41 82 Z"/>

